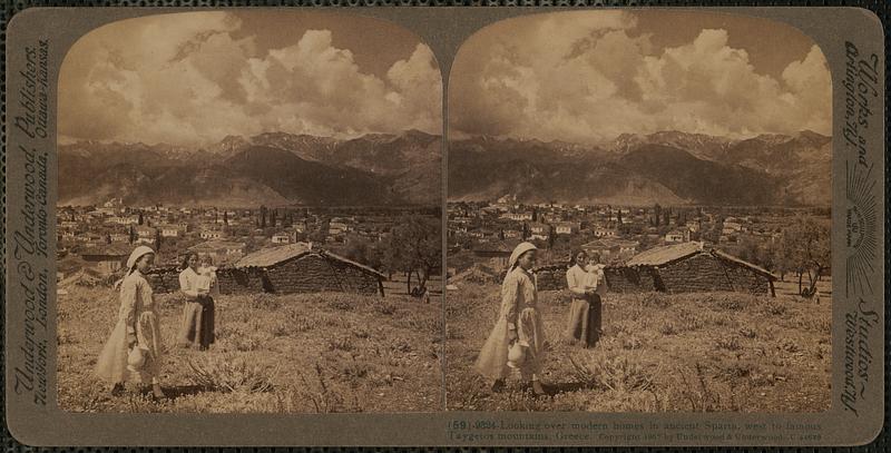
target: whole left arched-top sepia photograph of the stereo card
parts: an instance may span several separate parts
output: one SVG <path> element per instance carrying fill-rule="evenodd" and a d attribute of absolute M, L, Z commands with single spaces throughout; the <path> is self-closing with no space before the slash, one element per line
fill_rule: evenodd
<path fill-rule="evenodd" d="M 127 19 L 58 92 L 60 408 L 443 410 L 442 80 L 415 35 Z"/>

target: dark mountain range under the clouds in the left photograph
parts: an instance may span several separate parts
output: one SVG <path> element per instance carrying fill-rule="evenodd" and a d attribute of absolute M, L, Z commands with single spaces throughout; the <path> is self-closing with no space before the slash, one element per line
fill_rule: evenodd
<path fill-rule="evenodd" d="M 409 130 L 354 139 L 268 132 L 189 148 L 61 145 L 59 203 L 283 206 L 439 204 L 441 137 Z"/>

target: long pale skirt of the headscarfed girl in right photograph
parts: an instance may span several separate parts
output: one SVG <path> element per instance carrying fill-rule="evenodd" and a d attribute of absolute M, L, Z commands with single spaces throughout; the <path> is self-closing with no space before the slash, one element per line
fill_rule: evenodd
<path fill-rule="evenodd" d="M 538 311 L 530 307 L 523 308 L 519 313 L 517 323 L 518 341 L 523 345 L 526 352 L 526 360 L 519 371 L 520 376 L 528 381 L 532 374 L 541 371 L 545 358 L 545 325 Z M 510 376 L 513 368 L 508 366 L 509 349 L 508 322 L 503 316 L 499 316 L 486 344 L 480 349 L 474 368 L 481 375 L 492 380 Z"/>

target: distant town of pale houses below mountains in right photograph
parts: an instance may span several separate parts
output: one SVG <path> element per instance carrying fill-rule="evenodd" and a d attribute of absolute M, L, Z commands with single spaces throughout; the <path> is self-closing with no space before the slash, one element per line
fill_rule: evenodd
<path fill-rule="evenodd" d="M 777 263 L 776 256 L 779 244 L 783 233 L 801 218 L 828 225 L 830 209 L 532 205 L 505 198 L 449 203 L 449 274 L 460 273 L 474 263 L 505 260 L 521 240 L 546 249 L 542 265 L 567 263 L 576 248 L 595 254 L 604 264 L 621 265 L 656 246 L 702 242 L 704 247 L 783 272 L 785 266 Z"/>

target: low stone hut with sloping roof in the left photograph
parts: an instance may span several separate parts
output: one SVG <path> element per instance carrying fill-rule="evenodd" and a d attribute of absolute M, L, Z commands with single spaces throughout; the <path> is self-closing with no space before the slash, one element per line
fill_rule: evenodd
<path fill-rule="evenodd" d="M 221 293 L 277 294 L 345 292 L 383 295 L 380 272 L 326 250 L 297 243 L 266 248 L 217 270 Z"/>

